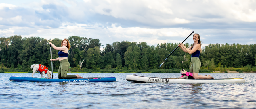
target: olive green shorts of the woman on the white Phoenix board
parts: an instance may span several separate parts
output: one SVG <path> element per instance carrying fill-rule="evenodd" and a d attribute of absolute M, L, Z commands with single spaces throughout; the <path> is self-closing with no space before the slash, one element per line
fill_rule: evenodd
<path fill-rule="evenodd" d="M 201 67 L 201 61 L 197 57 L 192 57 L 191 58 L 191 66 L 189 72 L 192 73 L 199 73 L 200 67 Z"/>

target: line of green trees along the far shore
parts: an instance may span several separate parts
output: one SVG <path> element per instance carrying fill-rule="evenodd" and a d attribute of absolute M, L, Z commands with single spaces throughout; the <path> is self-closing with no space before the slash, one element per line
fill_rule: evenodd
<path fill-rule="evenodd" d="M 165 58 L 178 46 L 178 43 L 163 43 L 157 46 L 146 42 L 113 42 L 106 44 L 103 50 L 99 39 L 70 36 L 68 61 L 74 71 L 99 70 L 134 70 L 149 71 L 153 69 L 189 69 L 191 55 L 177 49 L 159 68 Z M 50 46 L 61 45 L 61 39 L 44 39 L 19 35 L 0 38 L 0 70 L 31 71 L 32 64 L 42 64 L 51 69 Z M 192 44 L 185 43 L 187 48 Z M 58 50 L 52 49 L 53 59 L 58 57 Z M 256 71 L 256 44 L 209 44 L 202 49 L 201 70 Z M 53 62 L 57 71 L 59 62 Z M 112 71 L 113 72 L 113 71 Z"/>

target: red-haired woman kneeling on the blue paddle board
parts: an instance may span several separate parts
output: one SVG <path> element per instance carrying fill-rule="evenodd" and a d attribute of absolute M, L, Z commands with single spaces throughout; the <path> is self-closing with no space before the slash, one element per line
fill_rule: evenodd
<path fill-rule="evenodd" d="M 59 79 L 71 79 L 71 78 L 82 78 L 79 75 L 67 75 L 69 63 L 68 63 L 68 50 L 70 48 L 70 44 L 67 39 L 61 41 L 61 47 L 56 47 L 54 44 L 49 42 L 49 44 L 55 49 L 60 50 L 58 55 L 59 57 L 56 59 L 50 59 L 51 61 L 60 61 L 60 67 L 58 71 Z"/>

